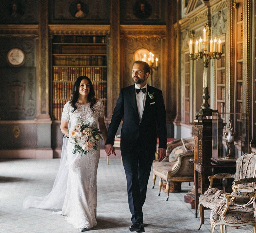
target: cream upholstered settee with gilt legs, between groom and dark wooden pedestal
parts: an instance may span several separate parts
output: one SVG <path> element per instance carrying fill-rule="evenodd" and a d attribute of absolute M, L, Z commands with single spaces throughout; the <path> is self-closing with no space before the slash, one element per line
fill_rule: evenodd
<path fill-rule="evenodd" d="M 183 145 L 184 143 L 184 145 Z M 167 143 L 167 156 L 158 162 L 153 162 L 153 187 L 155 186 L 156 177 L 159 177 L 159 194 L 166 182 L 166 200 L 169 199 L 169 192 L 180 192 L 182 182 L 193 181 L 193 159 L 194 141 L 193 137 L 184 138 Z M 191 159 L 191 160 L 190 160 Z"/>

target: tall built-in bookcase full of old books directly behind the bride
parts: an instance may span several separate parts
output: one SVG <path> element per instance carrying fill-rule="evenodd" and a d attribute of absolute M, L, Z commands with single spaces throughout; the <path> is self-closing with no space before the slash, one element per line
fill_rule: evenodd
<path fill-rule="evenodd" d="M 95 97 L 107 104 L 107 44 L 105 36 L 54 35 L 52 38 L 52 116 L 61 119 L 78 76 L 92 81 Z"/>

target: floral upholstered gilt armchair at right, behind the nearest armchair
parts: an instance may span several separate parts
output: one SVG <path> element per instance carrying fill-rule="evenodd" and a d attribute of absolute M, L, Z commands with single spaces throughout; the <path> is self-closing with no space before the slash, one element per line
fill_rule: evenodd
<path fill-rule="evenodd" d="M 213 187 L 213 179 L 226 179 L 226 178 L 234 178 L 233 182 L 233 191 L 237 191 L 238 186 L 241 185 L 244 178 L 248 177 L 256 177 L 256 154 L 255 153 L 246 153 L 243 156 L 237 158 L 236 161 L 236 173 L 220 173 L 209 176 L 210 185 L 209 188 L 205 191 L 204 194 L 200 195 L 198 202 L 199 216 L 200 216 L 200 226 L 198 230 L 200 230 L 202 224 L 204 224 L 204 207 L 213 209 L 218 205 L 226 195 L 224 190 L 219 190 L 218 188 Z M 236 186 L 235 186 L 236 185 Z M 235 199 L 232 199 L 235 200 Z"/>

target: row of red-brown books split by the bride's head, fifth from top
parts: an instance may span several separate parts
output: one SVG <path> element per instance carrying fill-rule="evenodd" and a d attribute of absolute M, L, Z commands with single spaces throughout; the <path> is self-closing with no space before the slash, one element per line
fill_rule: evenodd
<path fill-rule="evenodd" d="M 97 99 L 107 98 L 107 83 L 92 82 L 95 97 Z M 53 99 L 70 99 L 73 83 L 71 82 L 53 82 Z"/>

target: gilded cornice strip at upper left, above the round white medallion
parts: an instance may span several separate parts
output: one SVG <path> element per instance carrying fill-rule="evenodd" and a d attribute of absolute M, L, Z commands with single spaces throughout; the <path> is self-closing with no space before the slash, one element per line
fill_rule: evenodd
<path fill-rule="evenodd" d="M 0 25 L 0 36 L 38 36 L 38 25 Z"/>

